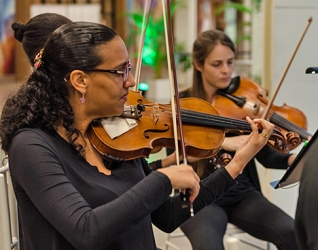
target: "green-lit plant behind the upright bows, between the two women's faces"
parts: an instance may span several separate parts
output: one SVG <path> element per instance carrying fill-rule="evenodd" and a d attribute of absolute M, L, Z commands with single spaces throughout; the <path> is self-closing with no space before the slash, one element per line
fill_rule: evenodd
<path fill-rule="evenodd" d="M 173 1 L 170 5 L 170 14 L 171 17 L 176 12 L 177 7 L 181 6 L 182 1 Z M 133 25 L 132 27 L 132 37 L 141 34 L 142 22 L 143 22 L 143 13 L 144 10 L 138 9 L 135 12 L 127 13 L 128 18 L 131 20 Z M 133 44 L 135 41 L 128 40 L 128 46 Z M 176 53 L 181 52 L 180 44 L 175 45 Z M 135 57 L 138 56 L 136 52 Z M 183 62 L 185 61 L 183 57 Z M 146 35 L 144 39 L 143 53 L 142 53 L 142 63 L 144 65 L 150 66 L 153 68 L 155 78 L 162 77 L 162 70 L 167 65 L 167 52 L 166 52 L 166 41 L 165 41 L 165 27 L 164 27 L 164 18 L 161 15 L 160 17 L 155 17 L 150 13 L 148 17 L 148 24 L 146 28 Z"/>

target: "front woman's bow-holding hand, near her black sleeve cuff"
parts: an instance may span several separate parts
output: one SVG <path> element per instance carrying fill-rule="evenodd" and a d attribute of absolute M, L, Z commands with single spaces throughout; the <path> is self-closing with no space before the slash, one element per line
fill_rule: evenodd
<path fill-rule="evenodd" d="M 191 166 L 180 164 L 178 166 L 159 168 L 157 171 L 165 174 L 170 179 L 173 189 L 190 189 L 190 202 L 193 202 L 199 194 L 200 178 Z"/>

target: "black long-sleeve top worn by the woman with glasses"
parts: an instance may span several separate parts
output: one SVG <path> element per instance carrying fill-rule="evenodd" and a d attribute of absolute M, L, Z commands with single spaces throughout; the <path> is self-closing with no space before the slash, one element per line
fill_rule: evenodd
<path fill-rule="evenodd" d="M 57 133 L 22 129 L 9 148 L 9 167 L 25 250 L 156 249 L 152 223 L 172 232 L 190 218 L 167 176 L 143 158 L 111 175 L 79 157 Z M 195 213 L 236 185 L 225 169 L 201 182 Z"/>

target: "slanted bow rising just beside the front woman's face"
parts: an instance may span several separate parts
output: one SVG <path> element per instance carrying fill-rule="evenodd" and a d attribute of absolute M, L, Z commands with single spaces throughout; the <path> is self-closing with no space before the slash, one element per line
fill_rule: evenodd
<path fill-rule="evenodd" d="M 141 63 L 142 63 L 142 52 L 145 44 L 145 37 L 146 37 L 146 30 L 148 26 L 148 19 L 149 19 L 149 13 L 152 5 L 152 0 L 146 0 L 145 2 L 145 8 L 144 8 L 144 14 L 142 18 L 142 25 L 141 25 L 141 34 L 139 39 L 139 51 L 138 51 L 138 58 L 136 62 L 136 71 L 135 71 L 135 82 L 136 85 L 134 87 L 135 91 L 138 91 L 138 85 L 140 82 L 140 73 L 141 73 Z"/>

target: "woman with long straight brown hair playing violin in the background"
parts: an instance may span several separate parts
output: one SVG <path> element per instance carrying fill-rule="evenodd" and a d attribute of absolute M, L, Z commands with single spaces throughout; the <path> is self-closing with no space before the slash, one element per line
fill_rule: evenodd
<path fill-rule="evenodd" d="M 193 44 L 193 85 L 181 92 L 180 97 L 202 98 L 213 105 L 218 90 L 231 82 L 234 57 L 235 46 L 225 33 L 218 30 L 201 33 Z M 245 135 L 227 135 L 221 149 L 234 155 L 245 138 Z M 171 156 L 162 161 L 163 166 L 165 162 L 171 163 Z M 294 158 L 295 155 L 283 155 L 269 146 L 255 157 L 265 167 L 277 169 L 286 169 Z M 201 179 L 218 171 L 212 159 L 191 165 Z M 181 226 L 193 249 L 224 249 L 223 237 L 228 222 L 256 238 L 274 243 L 280 250 L 298 249 L 294 220 L 262 195 L 254 159 L 237 181 L 238 185 Z"/>

